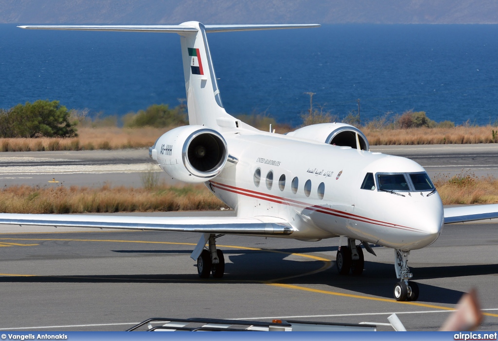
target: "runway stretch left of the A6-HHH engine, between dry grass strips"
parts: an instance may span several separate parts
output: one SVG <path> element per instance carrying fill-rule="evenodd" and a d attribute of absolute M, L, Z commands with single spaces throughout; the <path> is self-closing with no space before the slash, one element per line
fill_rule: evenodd
<path fill-rule="evenodd" d="M 0 153 L 0 184 L 39 186 L 140 187 L 142 177 L 153 171 L 158 180 L 173 180 L 149 158 L 146 148 L 126 150 L 3 152 Z"/>

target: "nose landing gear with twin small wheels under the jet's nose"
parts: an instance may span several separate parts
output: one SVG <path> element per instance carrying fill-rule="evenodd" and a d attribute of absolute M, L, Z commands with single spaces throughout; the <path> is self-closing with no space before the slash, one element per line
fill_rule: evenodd
<path fill-rule="evenodd" d="M 394 285 L 394 298 L 396 301 L 416 301 L 418 299 L 418 285 L 415 282 L 410 282 L 408 279 L 413 277 L 408 267 L 409 251 L 394 250 L 394 269 L 396 277 L 401 279 Z"/>

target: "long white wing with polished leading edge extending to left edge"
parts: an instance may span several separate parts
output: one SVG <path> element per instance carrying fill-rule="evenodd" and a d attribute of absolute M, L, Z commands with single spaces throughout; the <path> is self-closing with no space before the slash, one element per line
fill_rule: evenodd
<path fill-rule="evenodd" d="M 286 221 L 273 217 L 260 217 L 257 219 L 1 213 L 0 225 L 65 226 L 237 235 L 290 235 L 293 231 Z"/>

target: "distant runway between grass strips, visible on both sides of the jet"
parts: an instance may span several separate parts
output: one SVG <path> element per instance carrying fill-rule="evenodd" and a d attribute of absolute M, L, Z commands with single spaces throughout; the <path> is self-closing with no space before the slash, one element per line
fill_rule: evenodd
<path fill-rule="evenodd" d="M 381 152 L 410 158 L 431 178 L 461 172 L 498 177 L 498 144 L 373 146 Z M 146 148 L 117 151 L 3 152 L 0 185 L 142 186 L 142 177 L 156 172 L 159 181 L 180 184 L 154 165 Z M 56 182 L 53 181 L 55 178 Z"/>

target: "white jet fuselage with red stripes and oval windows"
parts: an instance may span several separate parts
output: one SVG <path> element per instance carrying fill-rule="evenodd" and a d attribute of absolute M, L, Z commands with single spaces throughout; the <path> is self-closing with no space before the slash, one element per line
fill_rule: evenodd
<path fill-rule="evenodd" d="M 401 250 L 423 248 L 441 233 L 437 192 L 361 189 L 368 172 L 425 172 L 416 162 L 278 134 L 223 135 L 239 161 L 207 184 L 238 217 L 279 217 L 294 228 L 288 238 L 343 235 Z"/>

